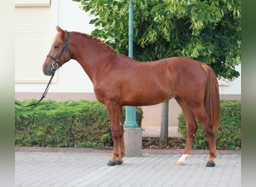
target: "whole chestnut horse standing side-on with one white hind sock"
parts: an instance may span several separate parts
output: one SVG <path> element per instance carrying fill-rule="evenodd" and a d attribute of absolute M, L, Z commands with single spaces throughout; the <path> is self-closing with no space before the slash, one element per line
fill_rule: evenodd
<path fill-rule="evenodd" d="M 216 157 L 214 131 L 219 126 L 219 87 L 213 70 L 190 58 L 174 57 L 159 61 L 138 62 L 115 52 L 88 34 L 58 33 L 43 64 L 43 73 L 51 76 L 61 65 L 74 59 L 94 84 L 97 99 L 106 105 L 112 128 L 114 150 L 108 165 L 121 165 L 125 156 L 123 105 L 155 105 L 174 98 L 186 120 L 186 147 L 177 165 L 185 165 L 198 129 L 195 117 L 207 134 L 213 167 Z"/>

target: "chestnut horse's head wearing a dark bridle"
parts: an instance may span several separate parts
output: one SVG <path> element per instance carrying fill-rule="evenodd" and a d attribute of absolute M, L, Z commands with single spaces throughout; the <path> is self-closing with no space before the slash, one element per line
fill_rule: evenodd
<path fill-rule="evenodd" d="M 55 41 L 52 43 L 52 47 L 46 60 L 43 63 L 43 73 L 46 76 L 52 76 L 55 70 L 58 70 L 62 64 L 71 59 L 72 53 L 68 43 L 70 33 L 62 30 L 59 26 L 56 26 L 58 33 L 55 36 Z"/>

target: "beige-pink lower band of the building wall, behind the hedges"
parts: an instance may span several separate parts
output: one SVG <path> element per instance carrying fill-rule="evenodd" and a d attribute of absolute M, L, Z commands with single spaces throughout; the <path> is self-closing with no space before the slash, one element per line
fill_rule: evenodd
<path fill-rule="evenodd" d="M 42 93 L 21 93 L 16 92 L 15 98 L 18 100 L 24 99 L 40 99 Z M 45 99 L 54 99 L 56 101 L 65 101 L 65 100 L 95 100 L 94 93 L 47 93 Z M 221 95 L 221 99 L 229 100 L 240 100 L 240 94 L 225 94 Z M 142 106 L 143 110 L 143 119 L 142 126 L 160 126 L 161 122 L 161 103 L 158 105 Z M 181 113 L 180 106 L 177 104 L 175 99 L 169 101 L 169 126 L 177 126 L 178 120 L 177 117 Z"/>

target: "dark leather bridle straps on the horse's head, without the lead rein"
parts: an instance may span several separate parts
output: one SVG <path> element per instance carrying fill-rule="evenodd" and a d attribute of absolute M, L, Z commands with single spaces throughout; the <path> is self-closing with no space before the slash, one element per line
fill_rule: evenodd
<path fill-rule="evenodd" d="M 63 55 L 66 52 L 66 49 L 68 49 L 69 52 L 70 52 L 70 58 L 72 57 L 70 47 L 68 46 L 69 37 L 70 37 L 70 33 L 67 31 L 67 37 L 64 40 L 64 45 L 62 46 L 61 53 L 60 53 L 60 55 L 58 55 L 58 58 L 55 58 L 55 57 L 53 57 L 52 55 L 49 55 L 49 54 L 47 55 L 47 57 L 52 58 L 52 60 L 54 61 L 54 63 L 52 63 L 52 67 L 51 67 L 52 72 L 55 72 L 55 70 L 57 70 L 58 67 L 61 67 L 60 58 L 61 58 L 61 55 Z M 65 60 L 65 57 L 64 57 L 64 60 Z"/>

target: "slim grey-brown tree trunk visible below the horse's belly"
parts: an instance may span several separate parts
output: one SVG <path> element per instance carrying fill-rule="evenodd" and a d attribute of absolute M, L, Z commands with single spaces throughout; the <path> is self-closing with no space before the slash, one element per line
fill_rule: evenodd
<path fill-rule="evenodd" d="M 169 100 L 162 102 L 160 144 L 168 143 Z"/>

